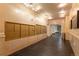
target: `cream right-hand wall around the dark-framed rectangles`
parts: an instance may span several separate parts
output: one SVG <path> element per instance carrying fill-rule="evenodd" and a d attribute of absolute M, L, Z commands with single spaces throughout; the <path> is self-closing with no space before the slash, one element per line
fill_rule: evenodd
<path fill-rule="evenodd" d="M 66 40 L 70 41 L 75 55 L 79 55 L 79 29 L 70 29 L 70 21 L 77 15 L 77 10 L 79 10 L 79 3 L 72 4 L 70 13 L 65 19 Z"/>

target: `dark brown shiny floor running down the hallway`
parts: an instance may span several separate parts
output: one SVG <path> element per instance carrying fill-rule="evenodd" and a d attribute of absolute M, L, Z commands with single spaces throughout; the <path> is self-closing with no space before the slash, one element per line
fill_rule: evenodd
<path fill-rule="evenodd" d="M 10 56 L 73 56 L 69 41 L 62 41 L 59 33 L 36 44 L 17 51 Z"/>

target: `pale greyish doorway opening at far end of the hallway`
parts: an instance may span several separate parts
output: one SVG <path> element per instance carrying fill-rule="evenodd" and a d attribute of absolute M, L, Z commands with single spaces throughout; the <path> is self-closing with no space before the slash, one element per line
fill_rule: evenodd
<path fill-rule="evenodd" d="M 51 36 L 57 41 L 62 41 L 61 25 L 53 24 L 51 25 Z"/>

